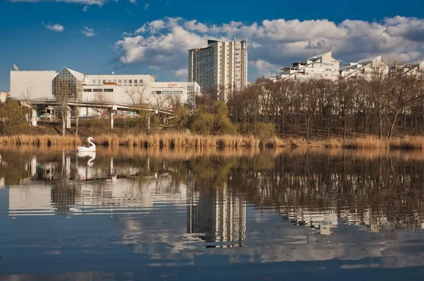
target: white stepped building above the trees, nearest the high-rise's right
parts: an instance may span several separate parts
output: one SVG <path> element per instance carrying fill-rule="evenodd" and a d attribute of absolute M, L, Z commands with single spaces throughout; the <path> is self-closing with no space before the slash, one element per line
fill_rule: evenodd
<path fill-rule="evenodd" d="M 331 52 L 311 56 L 306 61 L 299 61 L 290 67 L 280 69 L 278 78 L 310 80 L 312 78 L 338 79 L 339 61 L 334 59 Z"/>

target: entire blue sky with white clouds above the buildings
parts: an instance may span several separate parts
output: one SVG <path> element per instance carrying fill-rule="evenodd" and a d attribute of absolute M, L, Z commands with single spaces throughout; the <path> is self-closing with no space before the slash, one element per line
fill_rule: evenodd
<path fill-rule="evenodd" d="M 186 81 L 188 49 L 247 40 L 248 80 L 324 51 L 424 56 L 424 0 L 0 0 L 0 91 L 19 70 Z"/>

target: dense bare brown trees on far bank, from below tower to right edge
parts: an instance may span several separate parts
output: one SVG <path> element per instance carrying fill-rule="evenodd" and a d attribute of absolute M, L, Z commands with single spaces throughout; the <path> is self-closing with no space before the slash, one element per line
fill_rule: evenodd
<path fill-rule="evenodd" d="M 417 135 L 424 128 L 423 73 L 397 65 L 373 64 L 335 81 L 259 78 L 226 102 L 218 90 L 208 90 L 187 126 L 198 133 L 306 139 Z"/>

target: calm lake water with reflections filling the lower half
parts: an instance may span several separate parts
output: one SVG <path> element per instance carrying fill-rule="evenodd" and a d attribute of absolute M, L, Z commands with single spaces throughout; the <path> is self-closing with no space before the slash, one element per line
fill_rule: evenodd
<path fill-rule="evenodd" d="M 424 273 L 424 153 L 3 147 L 0 280 Z"/>

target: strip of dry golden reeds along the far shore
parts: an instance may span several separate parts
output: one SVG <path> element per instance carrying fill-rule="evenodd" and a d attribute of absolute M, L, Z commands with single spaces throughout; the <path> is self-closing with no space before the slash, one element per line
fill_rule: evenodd
<path fill-rule="evenodd" d="M 152 135 L 126 135 L 118 136 L 113 133 L 93 136 L 97 145 L 105 146 L 143 146 L 143 147 L 268 147 L 268 148 L 401 148 L 423 149 L 423 136 L 408 136 L 405 138 L 391 138 L 380 140 L 372 136 L 367 138 L 324 138 L 305 140 L 303 138 L 277 138 L 261 140 L 254 136 L 224 135 L 224 136 L 201 136 L 185 133 L 155 133 Z M 81 145 L 86 140 L 74 136 L 3 136 L 0 143 L 4 145 Z"/>

